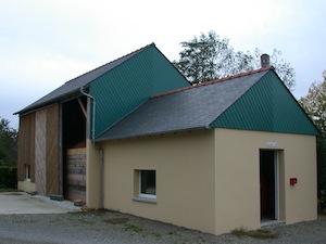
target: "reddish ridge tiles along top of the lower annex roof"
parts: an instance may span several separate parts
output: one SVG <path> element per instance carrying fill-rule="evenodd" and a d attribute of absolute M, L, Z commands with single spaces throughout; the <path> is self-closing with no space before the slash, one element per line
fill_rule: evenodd
<path fill-rule="evenodd" d="M 226 81 L 226 80 L 230 80 L 230 79 L 235 79 L 235 78 L 240 78 L 240 77 L 243 77 L 243 76 L 253 75 L 253 74 L 265 72 L 265 70 L 274 70 L 274 69 L 275 69 L 274 66 L 269 65 L 269 66 L 266 66 L 266 67 L 261 67 L 259 69 L 244 72 L 244 73 L 239 73 L 239 74 L 233 75 L 233 76 L 227 76 L 227 77 L 224 77 L 224 78 L 221 78 L 221 79 L 213 79 L 213 80 L 209 80 L 209 81 L 201 82 L 201 84 L 193 84 L 190 87 L 178 88 L 178 89 L 175 89 L 175 90 L 172 90 L 172 91 L 166 91 L 166 92 L 153 94 L 150 98 L 154 99 L 154 98 L 158 98 L 158 97 L 173 94 L 173 93 L 177 93 L 177 92 L 180 92 L 180 91 L 195 89 L 195 88 L 198 88 L 198 87 L 204 87 L 204 86 L 209 86 L 209 85 L 212 85 L 212 84 L 217 84 L 217 82 L 222 82 L 222 81 Z"/>

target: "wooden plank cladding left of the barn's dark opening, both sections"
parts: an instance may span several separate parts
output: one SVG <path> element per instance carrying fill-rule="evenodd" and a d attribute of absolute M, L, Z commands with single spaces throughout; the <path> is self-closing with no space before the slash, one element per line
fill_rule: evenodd
<path fill-rule="evenodd" d="M 60 194 L 60 105 L 53 104 L 21 116 L 17 180 L 30 181 L 40 195 Z"/>

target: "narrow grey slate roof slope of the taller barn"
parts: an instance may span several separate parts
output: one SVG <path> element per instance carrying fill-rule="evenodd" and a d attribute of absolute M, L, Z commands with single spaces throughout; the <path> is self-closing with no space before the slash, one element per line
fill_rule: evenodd
<path fill-rule="evenodd" d="M 125 61 L 129 60 L 130 57 L 135 56 L 139 52 L 143 51 L 150 46 L 154 46 L 154 43 L 148 44 L 135 52 L 131 52 L 125 56 L 122 56 L 115 61 L 112 61 L 108 64 L 104 64 L 96 69 L 92 69 L 84 75 L 80 75 L 70 81 L 66 81 L 64 85 L 59 87 L 58 89 L 53 90 L 52 92 L 48 93 L 47 95 L 42 97 L 41 99 L 37 100 L 36 102 L 32 103 L 30 105 L 26 106 L 20 112 L 16 112 L 15 114 L 24 114 L 29 111 L 39 108 L 45 105 L 49 105 L 51 103 L 62 101 L 70 95 L 73 95 L 75 93 L 79 93 L 79 89 L 82 87 L 87 87 L 92 80 L 99 78 L 100 76 L 104 75 L 109 70 L 115 68 L 120 64 L 124 63 Z"/>

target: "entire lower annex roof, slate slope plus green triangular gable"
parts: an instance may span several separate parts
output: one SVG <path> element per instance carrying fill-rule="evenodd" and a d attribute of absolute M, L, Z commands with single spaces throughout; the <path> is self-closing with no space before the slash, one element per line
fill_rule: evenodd
<path fill-rule="evenodd" d="M 318 134 L 273 67 L 152 95 L 97 141 L 197 129 Z"/>

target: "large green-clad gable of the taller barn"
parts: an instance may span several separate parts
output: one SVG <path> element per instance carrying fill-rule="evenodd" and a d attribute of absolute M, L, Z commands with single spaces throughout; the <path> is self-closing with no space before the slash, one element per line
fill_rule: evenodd
<path fill-rule="evenodd" d="M 149 100 L 150 95 L 189 87 L 188 80 L 154 44 L 90 84 L 96 98 L 96 137 Z"/>

